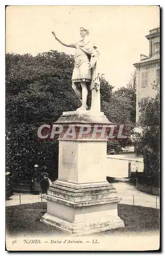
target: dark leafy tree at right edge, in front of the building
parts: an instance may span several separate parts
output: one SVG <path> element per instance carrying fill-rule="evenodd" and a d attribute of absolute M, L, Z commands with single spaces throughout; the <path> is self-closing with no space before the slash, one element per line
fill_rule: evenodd
<path fill-rule="evenodd" d="M 140 176 L 140 181 L 159 186 L 160 96 L 157 86 L 154 86 L 154 90 L 157 90 L 156 97 L 151 98 L 146 105 L 141 105 L 139 125 L 142 133 L 135 141 L 144 158 L 144 173 Z"/>

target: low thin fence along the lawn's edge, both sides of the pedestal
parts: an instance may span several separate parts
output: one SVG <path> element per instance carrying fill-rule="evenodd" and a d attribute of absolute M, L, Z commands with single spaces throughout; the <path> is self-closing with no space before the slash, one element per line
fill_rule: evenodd
<path fill-rule="evenodd" d="M 160 200 L 158 196 L 153 195 L 139 195 L 139 194 L 122 194 L 118 193 L 118 197 L 121 199 L 120 204 L 140 205 L 144 207 L 160 208 Z M 43 197 L 43 194 L 21 194 L 14 193 L 8 200 L 6 200 L 6 206 L 19 205 L 19 204 L 32 204 L 32 203 L 47 202 Z"/>

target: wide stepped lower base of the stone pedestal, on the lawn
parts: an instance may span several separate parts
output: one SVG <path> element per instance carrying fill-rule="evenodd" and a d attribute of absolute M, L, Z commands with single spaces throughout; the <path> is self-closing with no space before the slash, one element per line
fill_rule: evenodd
<path fill-rule="evenodd" d="M 41 221 L 72 234 L 124 227 L 118 216 L 120 202 L 108 182 L 73 183 L 57 180 L 48 189 L 47 212 Z"/>

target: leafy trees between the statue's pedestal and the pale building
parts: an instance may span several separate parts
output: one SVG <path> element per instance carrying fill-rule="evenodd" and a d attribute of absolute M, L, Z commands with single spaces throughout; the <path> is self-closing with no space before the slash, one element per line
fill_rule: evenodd
<path fill-rule="evenodd" d="M 108 151 L 113 148 L 119 151 L 119 147 L 125 147 L 131 144 L 130 136 L 135 127 L 136 114 L 136 72 L 131 75 L 131 79 L 127 87 L 121 87 L 114 93 L 106 91 L 104 100 L 104 87 L 102 87 L 101 106 L 105 115 L 109 120 L 116 124 L 123 124 L 124 129 L 122 135 L 126 135 L 127 139 L 111 140 L 107 143 Z"/>

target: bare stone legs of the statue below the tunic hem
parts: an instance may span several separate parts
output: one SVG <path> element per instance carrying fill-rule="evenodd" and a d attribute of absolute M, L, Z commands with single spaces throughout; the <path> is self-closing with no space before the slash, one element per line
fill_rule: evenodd
<path fill-rule="evenodd" d="M 82 83 L 82 86 L 81 86 L 81 83 Z M 87 106 L 88 89 L 87 89 L 87 86 L 86 86 L 86 82 L 81 82 L 81 83 L 80 83 L 80 87 L 79 87 L 78 83 L 72 82 L 72 88 L 73 88 L 73 90 L 75 91 L 75 94 L 77 95 L 77 97 L 79 98 L 79 100 L 82 103 L 82 105 L 79 109 L 84 109 L 85 108 L 87 110 L 88 109 L 88 106 Z M 84 84 L 85 84 L 85 86 L 84 86 Z M 82 88 L 84 88 L 84 89 L 82 89 Z M 85 95 L 86 102 L 84 100 L 84 95 Z"/>

